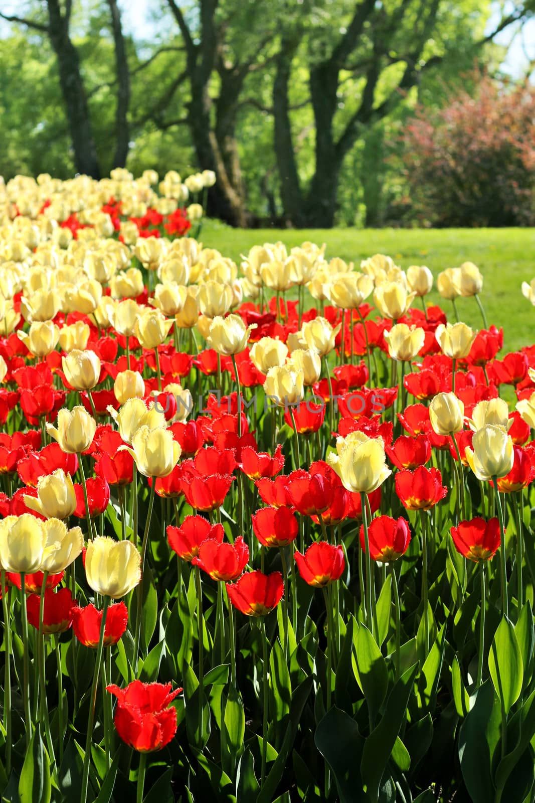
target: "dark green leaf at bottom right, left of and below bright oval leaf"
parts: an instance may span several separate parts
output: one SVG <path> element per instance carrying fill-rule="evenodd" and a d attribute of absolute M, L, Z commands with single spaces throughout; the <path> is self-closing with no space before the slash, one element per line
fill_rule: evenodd
<path fill-rule="evenodd" d="M 494 800 L 490 755 L 486 739 L 494 689 L 486 680 L 470 698 L 470 711 L 459 732 L 459 760 L 464 784 L 472 803 Z"/>

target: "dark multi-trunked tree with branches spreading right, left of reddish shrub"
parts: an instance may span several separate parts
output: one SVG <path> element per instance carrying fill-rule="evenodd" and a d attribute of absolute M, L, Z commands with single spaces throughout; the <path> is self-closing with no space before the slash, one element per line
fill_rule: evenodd
<path fill-rule="evenodd" d="M 492 41 L 498 31 L 530 13 L 532 6 L 516 6 L 495 31 L 472 40 L 472 49 Z M 351 16 L 342 16 L 349 8 Z M 347 24 L 338 24 L 343 32 L 334 41 L 330 30 L 310 26 L 308 17 L 303 16 L 292 26 L 282 22 L 273 86 L 274 146 L 282 201 L 294 225 L 333 225 L 338 181 L 347 153 L 371 126 L 391 114 L 430 67 L 441 63 L 448 51 L 456 48 L 455 37 L 440 37 L 444 19 L 450 18 L 453 11 L 457 22 L 466 25 L 474 4 L 464 4 L 463 8 L 450 0 L 341 2 L 336 7 L 331 5 L 331 13 L 338 12 L 339 20 L 347 18 Z M 473 25 L 469 30 L 473 31 Z M 307 188 L 302 186 L 295 159 L 290 115 L 292 67 L 303 39 L 307 43 L 315 128 L 314 173 Z M 351 111 L 344 109 L 340 114 L 343 84 L 348 76 L 358 92 L 351 99 Z"/>

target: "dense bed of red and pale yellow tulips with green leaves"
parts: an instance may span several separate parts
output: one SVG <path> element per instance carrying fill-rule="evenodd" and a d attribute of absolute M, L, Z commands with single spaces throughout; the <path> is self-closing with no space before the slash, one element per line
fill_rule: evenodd
<path fill-rule="evenodd" d="M 213 181 L 0 185 L 2 801 L 533 803 L 535 347 Z"/>

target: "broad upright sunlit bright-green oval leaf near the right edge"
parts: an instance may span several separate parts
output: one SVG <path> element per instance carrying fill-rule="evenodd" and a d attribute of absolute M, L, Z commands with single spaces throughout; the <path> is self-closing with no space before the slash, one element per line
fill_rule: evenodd
<path fill-rule="evenodd" d="M 521 695 L 524 667 L 513 622 L 501 619 L 488 654 L 488 670 L 505 714 Z"/>

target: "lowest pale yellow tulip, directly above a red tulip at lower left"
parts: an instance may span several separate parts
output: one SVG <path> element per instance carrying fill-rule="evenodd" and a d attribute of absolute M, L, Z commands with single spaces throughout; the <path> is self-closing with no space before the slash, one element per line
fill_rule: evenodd
<path fill-rule="evenodd" d="M 141 580 L 141 556 L 132 541 L 97 536 L 87 544 L 87 584 L 103 597 L 120 599 Z"/>

